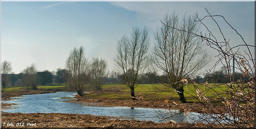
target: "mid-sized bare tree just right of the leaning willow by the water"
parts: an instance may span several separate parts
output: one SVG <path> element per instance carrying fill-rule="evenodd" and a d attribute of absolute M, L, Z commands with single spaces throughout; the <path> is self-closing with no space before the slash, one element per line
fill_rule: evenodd
<path fill-rule="evenodd" d="M 93 58 L 91 62 L 91 88 L 93 91 L 101 90 L 104 78 L 107 76 L 107 62 L 105 59 Z"/>

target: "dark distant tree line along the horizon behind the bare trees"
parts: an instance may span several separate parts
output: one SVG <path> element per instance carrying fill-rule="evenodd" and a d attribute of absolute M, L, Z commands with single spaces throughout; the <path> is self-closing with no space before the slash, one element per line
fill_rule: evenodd
<path fill-rule="evenodd" d="M 34 67 L 34 66 L 33 66 Z M 66 83 L 66 76 L 68 71 L 66 69 L 58 68 L 56 70 L 56 74 L 53 75 L 52 72 L 49 71 L 43 71 L 43 72 L 36 72 L 35 79 L 37 80 L 38 85 L 49 85 L 51 83 Z M 6 75 L 2 75 L 2 86 L 3 84 L 6 86 L 23 86 L 23 78 L 27 78 L 29 75 L 28 70 L 24 70 L 21 73 L 14 74 L 14 73 L 8 73 Z M 232 76 L 234 81 L 239 80 L 242 78 L 242 73 L 235 72 Z M 7 79 L 8 78 L 8 79 Z M 146 72 L 142 75 L 140 75 L 140 80 L 137 82 L 138 84 L 154 84 L 154 83 L 160 83 L 160 80 L 168 80 L 168 77 L 166 75 L 157 75 L 156 73 Z M 90 78 L 91 79 L 91 78 Z M 233 80 L 232 79 L 232 80 Z M 125 77 L 124 75 L 117 73 L 115 71 L 112 71 L 108 74 L 108 76 L 104 76 L 101 78 L 101 83 L 107 83 L 107 84 L 116 84 L 116 83 L 125 83 Z M 205 73 L 202 76 L 195 76 L 193 78 L 193 81 L 195 83 L 205 83 L 206 81 L 208 83 L 227 83 L 227 76 L 225 75 L 225 71 L 223 68 L 220 70 L 216 70 L 212 73 Z M 96 90 L 96 88 L 95 88 Z"/>

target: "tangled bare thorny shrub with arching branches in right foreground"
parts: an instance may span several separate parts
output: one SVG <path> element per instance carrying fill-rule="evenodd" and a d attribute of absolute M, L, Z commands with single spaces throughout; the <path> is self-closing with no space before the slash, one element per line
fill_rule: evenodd
<path fill-rule="evenodd" d="M 202 125 L 204 128 L 253 128 L 255 127 L 256 114 L 255 114 L 255 57 L 252 56 L 252 48 L 256 46 L 248 44 L 242 35 L 221 15 L 212 15 L 206 9 L 208 15 L 203 18 L 197 17 L 197 20 L 202 24 L 206 30 L 202 35 L 201 33 L 191 33 L 194 37 L 199 37 L 206 42 L 208 46 L 218 52 L 218 61 L 214 64 L 213 68 L 209 71 L 209 76 L 213 75 L 214 70 L 218 64 L 222 64 L 223 73 L 221 76 L 227 78 L 227 81 L 221 83 L 209 84 L 198 86 L 194 83 L 193 96 L 201 104 L 201 108 L 194 108 L 194 111 L 201 112 L 198 115 L 198 120 L 194 122 L 206 123 Z M 205 19 L 214 21 L 218 31 L 211 31 L 206 24 Z M 224 31 L 220 28 L 217 19 L 223 20 L 227 23 L 226 27 L 230 28 L 242 40 L 240 44 L 229 43 L 229 39 L 225 36 Z M 213 24 L 211 24 L 212 26 Z M 224 24 L 225 25 L 225 24 Z M 222 24 L 223 26 L 223 24 Z M 173 28 L 169 26 L 170 28 Z M 227 29 L 225 28 L 225 29 Z M 173 28 L 178 31 L 183 31 L 178 28 Z M 230 32 L 230 31 L 229 31 Z M 221 37 L 216 35 L 220 34 Z M 243 51 L 241 51 L 243 49 Z M 232 66 L 233 58 L 234 66 Z M 233 72 L 232 68 L 236 68 L 240 73 Z M 218 77 L 218 76 L 217 76 Z M 236 78 L 235 78 L 236 77 Z M 238 78 L 237 78 L 238 77 Z M 193 90 L 191 90 L 193 91 Z M 210 95 L 209 95 L 210 94 Z M 168 101 L 166 101 L 168 104 Z M 173 104 L 174 106 L 176 103 Z M 169 106 L 169 105 L 168 105 Z M 180 108 L 183 111 L 191 112 L 191 105 Z M 179 106 L 178 106 L 179 107 Z M 199 106 L 196 106 L 199 107 Z M 186 112 L 186 113 L 188 113 Z M 170 116 L 172 117 L 172 116 Z M 166 118 L 164 118 L 166 119 Z"/>

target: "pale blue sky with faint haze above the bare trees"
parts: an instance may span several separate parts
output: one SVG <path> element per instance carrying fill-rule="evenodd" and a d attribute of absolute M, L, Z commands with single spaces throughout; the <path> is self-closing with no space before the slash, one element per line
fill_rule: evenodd
<path fill-rule="evenodd" d="M 166 13 L 179 16 L 198 13 L 200 17 L 220 14 L 254 45 L 254 2 L 2 2 L 1 62 L 12 63 L 14 73 L 22 72 L 32 63 L 37 71 L 65 68 L 73 48 L 85 48 L 86 57 L 105 59 L 108 70 L 114 70 L 116 43 L 132 27 L 146 27 L 150 44 Z M 212 21 L 205 21 L 213 32 L 218 29 Z M 219 21 L 232 45 L 242 42 L 237 34 Z M 203 33 L 206 32 L 202 28 Z M 213 49 L 208 70 L 218 58 Z M 253 55 L 254 55 L 254 51 Z"/>

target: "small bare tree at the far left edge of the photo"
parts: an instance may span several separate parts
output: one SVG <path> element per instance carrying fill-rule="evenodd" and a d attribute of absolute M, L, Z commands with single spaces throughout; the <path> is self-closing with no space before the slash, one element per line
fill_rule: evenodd
<path fill-rule="evenodd" d="M 11 62 L 4 61 L 2 63 L 2 85 L 3 85 L 3 88 L 6 88 L 6 85 L 9 82 L 9 78 L 8 78 L 7 74 L 11 73 L 11 71 L 12 71 Z"/>

